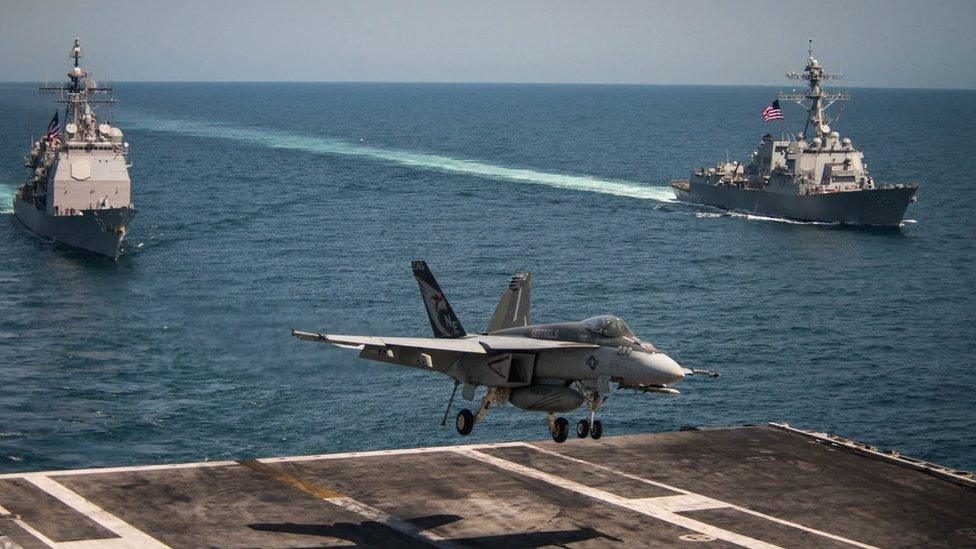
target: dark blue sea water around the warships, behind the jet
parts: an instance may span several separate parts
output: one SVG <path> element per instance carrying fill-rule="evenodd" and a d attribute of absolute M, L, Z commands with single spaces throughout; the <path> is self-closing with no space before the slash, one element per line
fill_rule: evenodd
<path fill-rule="evenodd" d="M 802 129 L 762 124 L 774 88 L 120 84 L 140 211 L 109 261 L 9 213 L 34 90 L 0 85 L 2 471 L 460 442 L 447 378 L 289 335 L 429 335 L 419 258 L 468 331 L 530 270 L 535 321 L 614 313 L 722 372 L 615 394 L 607 434 L 787 421 L 976 469 L 976 92 L 853 90 L 836 128 L 921 186 L 876 230 L 673 201 Z M 507 406 L 464 440 L 547 436 Z"/>

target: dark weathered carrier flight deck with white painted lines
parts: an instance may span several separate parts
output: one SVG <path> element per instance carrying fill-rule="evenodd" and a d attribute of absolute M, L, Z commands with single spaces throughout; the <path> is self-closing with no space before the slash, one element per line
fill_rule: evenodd
<path fill-rule="evenodd" d="M 976 546 L 976 490 L 781 428 L 0 475 L 22 547 Z"/>

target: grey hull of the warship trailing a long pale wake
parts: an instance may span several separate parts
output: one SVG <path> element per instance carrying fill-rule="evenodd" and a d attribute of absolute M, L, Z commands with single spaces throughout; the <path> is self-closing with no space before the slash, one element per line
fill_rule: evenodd
<path fill-rule="evenodd" d="M 723 210 L 798 221 L 897 227 L 913 201 L 915 186 L 794 195 L 724 187 L 694 180 L 673 183 L 678 200 Z"/>

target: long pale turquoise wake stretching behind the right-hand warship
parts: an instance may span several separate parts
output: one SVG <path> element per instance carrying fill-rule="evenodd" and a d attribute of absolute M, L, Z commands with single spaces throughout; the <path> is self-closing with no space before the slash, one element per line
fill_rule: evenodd
<path fill-rule="evenodd" d="M 674 202 L 670 189 L 663 186 L 601 179 L 588 175 L 567 175 L 506 167 L 479 160 L 380 148 L 327 137 L 302 136 L 268 129 L 241 128 L 198 120 L 159 119 L 134 115 L 126 117 L 125 126 L 133 129 L 179 133 L 194 137 L 231 139 L 274 149 L 369 158 L 417 170 L 469 175 L 493 181 L 542 185 L 556 189 L 609 194 L 657 202 Z"/>

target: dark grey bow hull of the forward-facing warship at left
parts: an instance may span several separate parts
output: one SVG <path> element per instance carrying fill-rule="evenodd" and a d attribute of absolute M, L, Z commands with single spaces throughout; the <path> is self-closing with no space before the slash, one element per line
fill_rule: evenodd
<path fill-rule="evenodd" d="M 33 204 L 14 197 L 14 214 L 32 232 L 92 253 L 117 258 L 122 251 L 126 227 L 136 214 L 134 208 L 84 210 L 81 215 L 48 215 Z"/>

